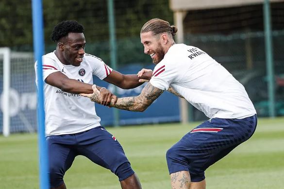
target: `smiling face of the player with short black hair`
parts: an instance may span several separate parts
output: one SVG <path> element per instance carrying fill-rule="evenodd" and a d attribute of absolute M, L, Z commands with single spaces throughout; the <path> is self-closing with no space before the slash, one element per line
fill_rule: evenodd
<path fill-rule="evenodd" d="M 58 47 L 62 53 L 61 62 L 65 65 L 80 66 L 84 57 L 86 40 L 83 33 L 69 33 Z"/>

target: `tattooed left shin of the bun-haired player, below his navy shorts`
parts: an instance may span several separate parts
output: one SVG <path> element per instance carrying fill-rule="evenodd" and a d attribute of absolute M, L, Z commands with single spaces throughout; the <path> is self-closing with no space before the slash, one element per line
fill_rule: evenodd
<path fill-rule="evenodd" d="M 189 189 L 190 175 L 187 171 L 174 172 L 170 174 L 172 189 Z"/>

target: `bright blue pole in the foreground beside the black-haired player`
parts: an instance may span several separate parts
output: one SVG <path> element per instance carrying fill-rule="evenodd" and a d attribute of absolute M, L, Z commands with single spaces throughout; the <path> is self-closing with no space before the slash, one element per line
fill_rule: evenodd
<path fill-rule="evenodd" d="M 42 56 L 44 52 L 42 0 L 32 0 L 33 8 L 33 49 L 37 61 L 38 79 L 38 143 L 40 189 L 49 189 L 48 150 L 45 140 L 44 93 L 42 76 Z"/>

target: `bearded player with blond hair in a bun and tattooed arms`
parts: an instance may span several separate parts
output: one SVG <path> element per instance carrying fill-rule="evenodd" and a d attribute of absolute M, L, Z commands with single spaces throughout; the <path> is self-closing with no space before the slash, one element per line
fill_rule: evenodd
<path fill-rule="evenodd" d="M 176 44 L 176 32 L 162 19 L 145 23 L 140 37 L 144 53 L 156 64 L 152 78 L 139 96 L 118 98 L 110 106 L 144 111 L 167 90 L 202 111 L 210 120 L 184 135 L 166 157 L 172 189 L 205 189 L 205 170 L 252 136 L 256 111 L 232 74 L 199 48 Z M 93 89 L 93 94 L 82 95 L 100 103 L 100 92 Z"/>

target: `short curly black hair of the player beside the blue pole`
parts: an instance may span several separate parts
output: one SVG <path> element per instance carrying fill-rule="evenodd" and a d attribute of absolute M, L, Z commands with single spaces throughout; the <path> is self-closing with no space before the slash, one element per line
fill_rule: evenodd
<path fill-rule="evenodd" d="M 53 28 L 50 38 L 52 41 L 58 42 L 59 39 L 67 36 L 68 33 L 84 33 L 84 26 L 75 20 L 62 21 Z"/>

